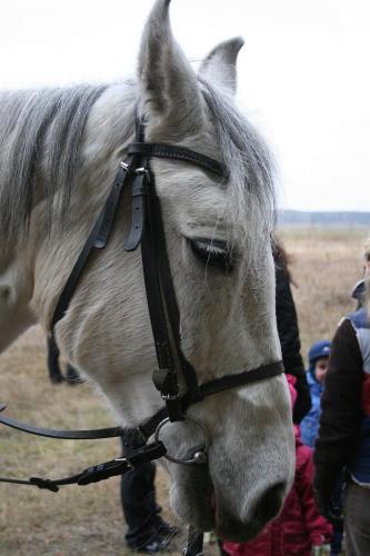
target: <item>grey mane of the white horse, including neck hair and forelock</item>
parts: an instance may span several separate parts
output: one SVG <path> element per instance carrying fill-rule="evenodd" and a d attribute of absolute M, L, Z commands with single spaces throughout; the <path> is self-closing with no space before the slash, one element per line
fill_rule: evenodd
<path fill-rule="evenodd" d="M 129 88 L 130 83 L 127 82 Z M 124 83 L 122 83 L 124 85 Z M 217 88 L 199 77 L 212 119 L 219 158 L 230 171 L 228 188 L 232 221 L 244 228 L 258 218 L 268 231 L 274 218 L 274 167 L 251 123 Z M 80 147 L 91 107 L 107 86 L 6 91 L 0 95 L 0 237 L 12 242 L 27 234 L 34 202 L 46 201 L 49 224 L 53 211 L 68 209 L 81 163 Z M 132 106 L 134 110 L 134 106 Z M 201 146 L 199 146 L 201 148 Z M 42 191 L 34 199 L 34 183 Z M 54 207 L 54 193 L 60 205 Z M 233 229 L 230 229 L 233 236 Z M 266 231 L 266 230 L 264 230 Z M 269 234 L 261 234 L 269 237 Z M 259 244 L 253 238 L 252 245 Z"/>

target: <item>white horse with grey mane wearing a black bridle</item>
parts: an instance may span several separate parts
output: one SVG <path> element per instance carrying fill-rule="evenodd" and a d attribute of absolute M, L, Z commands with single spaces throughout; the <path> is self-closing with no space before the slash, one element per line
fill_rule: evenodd
<path fill-rule="evenodd" d="M 274 317 L 273 169 L 233 103 L 233 39 L 197 76 L 173 40 L 169 0 L 146 26 L 138 80 L 0 97 L 0 348 L 36 321 L 46 330 L 60 291 L 107 197 L 137 111 L 148 141 L 188 147 L 224 163 L 227 182 L 172 160 L 152 161 L 180 311 L 182 350 L 198 380 L 281 358 Z M 139 250 L 123 250 L 128 198 L 109 246 L 93 258 L 56 327 L 62 355 L 96 381 L 122 424 L 161 407 Z M 201 249 L 194 252 L 194 238 Z M 212 239 L 232 270 L 213 265 Z M 199 246 L 198 246 L 199 248 Z M 218 259 L 219 260 L 219 259 Z M 294 468 L 283 375 L 190 406 L 211 435 L 209 465 L 166 461 L 174 513 L 222 538 L 248 539 L 281 508 Z M 194 444 L 191 423 L 163 429 L 169 451 Z"/>

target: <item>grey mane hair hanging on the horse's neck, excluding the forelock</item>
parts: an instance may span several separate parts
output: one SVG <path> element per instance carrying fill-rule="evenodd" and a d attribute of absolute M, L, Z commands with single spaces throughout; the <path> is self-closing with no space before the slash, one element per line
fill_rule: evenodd
<path fill-rule="evenodd" d="M 51 218 L 59 189 L 67 209 L 80 145 L 91 106 L 106 86 L 6 91 L 0 96 L 0 237 L 24 234 L 34 199 L 34 181 L 44 176 L 41 196 Z M 41 198 L 42 198 L 41 197 Z M 49 218 L 49 220 L 50 220 Z"/>

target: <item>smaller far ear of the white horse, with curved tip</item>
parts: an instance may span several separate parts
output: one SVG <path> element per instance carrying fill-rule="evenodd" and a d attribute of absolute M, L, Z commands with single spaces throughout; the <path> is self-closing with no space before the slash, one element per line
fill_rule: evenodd
<path fill-rule="evenodd" d="M 241 37 L 220 42 L 203 60 L 199 73 L 211 83 L 234 95 L 237 89 L 237 58 L 244 44 Z"/>

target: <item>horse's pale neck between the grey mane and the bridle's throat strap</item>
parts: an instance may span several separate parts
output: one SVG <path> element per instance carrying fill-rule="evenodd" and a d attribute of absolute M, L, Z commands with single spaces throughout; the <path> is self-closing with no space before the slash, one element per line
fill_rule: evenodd
<path fill-rule="evenodd" d="M 14 102 L 18 98 L 14 95 Z M 21 241 L 17 238 L 2 242 L 0 351 L 37 320 L 49 326 L 57 298 L 103 205 L 124 147 L 133 138 L 134 102 L 132 85 L 120 85 L 106 89 L 92 106 L 63 222 L 57 211 L 48 221 L 48 201 L 38 201 L 48 191 L 48 183 L 42 178 L 34 180 L 37 202 L 27 235 Z M 54 206 L 60 207 L 62 196 L 62 190 L 56 191 Z"/>

